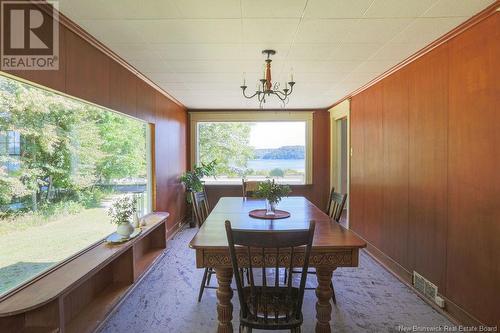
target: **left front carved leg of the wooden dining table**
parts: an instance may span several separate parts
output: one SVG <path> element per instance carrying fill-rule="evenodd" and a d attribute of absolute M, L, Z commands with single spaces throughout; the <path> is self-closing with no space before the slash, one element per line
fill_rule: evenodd
<path fill-rule="evenodd" d="M 231 268 L 216 268 L 215 274 L 219 287 L 217 288 L 217 319 L 219 326 L 217 327 L 218 333 L 233 333 L 233 290 L 231 289 L 231 279 L 233 277 L 233 270 Z"/>

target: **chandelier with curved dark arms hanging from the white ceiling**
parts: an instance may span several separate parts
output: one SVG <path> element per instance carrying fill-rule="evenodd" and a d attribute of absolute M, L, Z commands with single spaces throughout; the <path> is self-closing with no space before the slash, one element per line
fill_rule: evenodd
<path fill-rule="evenodd" d="M 243 85 L 240 86 L 243 96 L 248 99 L 257 97 L 257 100 L 259 101 L 259 107 L 262 109 L 264 107 L 264 104 L 266 103 L 266 98 L 271 95 L 274 95 L 280 99 L 282 107 L 285 107 L 289 101 L 288 96 L 292 94 L 293 86 L 295 85 L 295 82 L 293 81 L 293 74 L 290 75 L 290 81 L 285 82 L 285 88 L 283 88 L 283 90 L 280 90 L 279 82 L 275 82 L 273 84 L 271 81 L 271 62 L 272 62 L 271 56 L 275 55 L 276 51 L 264 50 L 262 51 L 262 54 L 267 55 L 267 59 L 265 60 L 266 63 L 264 65 L 265 66 L 264 77 L 259 80 L 260 83 L 257 83 L 257 89 L 255 90 L 255 93 L 250 96 L 245 93 L 248 86 L 246 85 L 245 78 L 243 78 Z"/>

